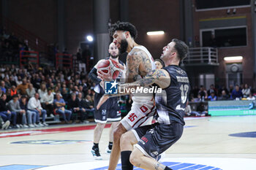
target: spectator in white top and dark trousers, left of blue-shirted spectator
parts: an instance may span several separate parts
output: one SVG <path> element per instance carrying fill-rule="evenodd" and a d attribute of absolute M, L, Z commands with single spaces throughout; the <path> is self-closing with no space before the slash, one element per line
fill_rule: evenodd
<path fill-rule="evenodd" d="M 46 109 L 47 115 L 54 117 L 53 116 L 53 100 L 54 96 L 53 93 L 51 92 L 51 88 L 48 88 L 47 93 L 45 93 L 42 98 L 40 99 L 42 107 Z"/>

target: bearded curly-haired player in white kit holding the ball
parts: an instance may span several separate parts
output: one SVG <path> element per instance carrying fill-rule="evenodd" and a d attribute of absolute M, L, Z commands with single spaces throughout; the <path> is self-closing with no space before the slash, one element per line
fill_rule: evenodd
<path fill-rule="evenodd" d="M 113 42 L 120 50 L 120 53 L 128 53 L 126 82 L 140 80 L 145 77 L 148 72 L 156 69 L 154 59 L 146 47 L 138 45 L 135 42 L 137 37 L 135 26 L 131 23 L 117 22 L 111 26 L 110 34 L 113 36 Z M 102 80 L 108 77 L 107 74 L 101 71 L 99 71 L 98 75 L 102 77 Z M 108 98 L 108 96 L 104 97 Z M 132 128 L 144 125 L 143 123 L 147 123 L 148 117 L 151 117 L 156 112 L 152 94 L 148 96 L 132 96 L 132 101 L 131 110 L 127 116 L 121 120 L 121 123 L 118 124 L 118 127 L 114 131 L 113 150 L 110 155 L 108 169 L 116 169 L 120 155 L 121 135 Z M 151 120 L 148 120 L 148 122 L 151 123 Z M 123 158 L 124 156 L 121 155 L 121 160 Z"/>

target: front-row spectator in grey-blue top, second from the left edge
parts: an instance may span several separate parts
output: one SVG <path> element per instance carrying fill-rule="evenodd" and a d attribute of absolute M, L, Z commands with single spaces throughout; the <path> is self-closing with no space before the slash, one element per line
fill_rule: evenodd
<path fill-rule="evenodd" d="M 26 121 L 26 110 L 20 109 L 20 102 L 18 101 L 18 95 L 12 96 L 12 100 L 8 102 L 8 107 L 10 111 L 16 112 L 17 114 L 17 124 L 20 127 L 29 128 Z"/>

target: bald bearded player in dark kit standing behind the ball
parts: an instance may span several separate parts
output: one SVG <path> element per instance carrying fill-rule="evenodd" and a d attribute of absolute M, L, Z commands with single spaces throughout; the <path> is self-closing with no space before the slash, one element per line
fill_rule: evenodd
<path fill-rule="evenodd" d="M 117 63 L 121 63 L 124 66 L 124 63 L 118 60 L 118 54 L 119 54 L 118 48 L 113 42 L 110 43 L 109 45 L 108 53 L 110 53 L 109 58 L 111 60 L 116 61 Z M 98 63 L 100 63 L 103 60 L 100 60 Z M 97 85 L 94 88 L 94 91 L 95 91 L 94 120 L 97 123 L 97 125 L 94 128 L 94 146 L 91 149 L 91 153 L 96 160 L 101 160 L 102 157 L 99 153 L 99 140 L 100 140 L 100 137 L 102 136 L 103 128 L 105 128 L 105 124 L 107 123 L 107 121 L 112 122 L 112 125 L 110 127 L 110 134 L 109 134 L 109 144 L 105 150 L 106 153 L 110 154 L 112 150 L 112 145 L 113 145 L 113 129 L 116 128 L 116 126 L 118 125 L 118 121 L 121 120 L 121 112 L 118 106 L 118 97 L 108 99 L 108 101 L 106 101 L 105 104 L 103 104 L 99 109 L 96 109 L 99 99 L 105 93 L 101 85 L 99 85 L 100 83 L 102 83 L 102 81 L 99 78 L 97 78 L 98 63 L 94 66 L 93 69 L 91 69 L 91 72 L 89 73 L 89 78 L 93 80 L 93 82 L 97 83 Z M 125 66 L 124 66 L 124 69 L 125 69 Z M 123 72 L 125 72 L 125 70 Z M 124 75 L 124 74 L 120 72 L 118 79 L 120 79 L 121 75 Z"/>

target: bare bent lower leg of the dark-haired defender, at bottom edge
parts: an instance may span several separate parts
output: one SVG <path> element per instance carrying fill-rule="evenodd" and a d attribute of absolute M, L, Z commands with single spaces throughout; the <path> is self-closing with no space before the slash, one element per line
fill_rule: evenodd
<path fill-rule="evenodd" d="M 132 165 L 140 167 L 141 169 L 159 169 L 159 170 L 170 170 L 169 167 L 157 162 L 154 158 L 149 158 L 143 154 L 137 147 L 132 151 L 129 157 L 129 161 Z"/>

